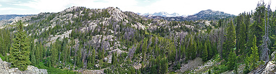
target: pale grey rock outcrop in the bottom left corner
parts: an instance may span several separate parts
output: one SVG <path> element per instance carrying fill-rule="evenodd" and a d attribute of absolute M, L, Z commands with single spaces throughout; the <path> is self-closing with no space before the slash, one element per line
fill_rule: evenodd
<path fill-rule="evenodd" d="M 0 74 L 48 74 L 47 70 L 38 69 L 34 66 L 28 66 L 27 71 L 19 71 L 18 68 L 11 68 L 11 63 L 2 61 L 0 58 Z"/>

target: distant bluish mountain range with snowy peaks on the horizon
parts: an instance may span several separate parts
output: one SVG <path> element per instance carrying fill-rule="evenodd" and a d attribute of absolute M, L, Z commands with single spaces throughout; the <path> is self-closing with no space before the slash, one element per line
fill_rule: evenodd
<path fill-rule="evenodd" d="M 164 20 L 169 20 L 169 21 L 185 21 L 185 20 L 190 21 L 190 20 L 219 20 L 221 18 L 228 18 L 228 17 L 233 17 L 233 16 L 235 16 L 235 15 L 208 9 L 208 10 L 202 10 L 202 11 L 196 13 L 195 15 L 190 15 L 187 17 L 148 16 L 148 18 L 164 19 Z"/>

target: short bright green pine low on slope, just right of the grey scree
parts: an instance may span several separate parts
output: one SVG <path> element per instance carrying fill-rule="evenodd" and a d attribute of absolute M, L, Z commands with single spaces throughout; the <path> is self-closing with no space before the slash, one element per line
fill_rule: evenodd
<path fill-rule="evenodd" d="M 227 67 L 230 71 L 234 70 L 236 62 L 236 53 L 233 51 L 233 49 L 230 51 L 230 54 L 228 56 L 228 62 Z"/>

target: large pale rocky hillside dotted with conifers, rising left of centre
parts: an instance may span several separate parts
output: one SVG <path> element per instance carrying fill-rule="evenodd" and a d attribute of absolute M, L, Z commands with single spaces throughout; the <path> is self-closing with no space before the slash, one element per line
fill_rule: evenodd
<path fill-rule="evenodd" d="M 125 69 L 138 71 L 145 67 L 143 65 L 150 65 L 151 57 L 149 56 L 157 56 L 149 50 L 144 56 L 145 64 L 143 64 L 142 47 L 144 47 L 143 49 L 145 46 L 153 49 L 154 46 L 159 46 L 165 49 L 164 51 L 174 54 L 175 51 L 169 51 L 172 50 L 171 47 L 164 47 L 163 44 L 157 43 L 164 42 L 167 44 L 166 46 L 172 46 L 174 44 L 173 37 L 183 37 L 189 33 L 204 31 L 207 27 L 213 28 L 212 25 L 215 25 L 215 23 L 210 24 L 211 21 L 196 21 L 197 24 L 193 24 L 195 22 L 150 19 L 133 12 L 123 12 L 115 7 L 89 9 L 74 6 L 58 13 L 40 13 L 13 19 L 7 25 L 0 26 L 0 29 L 8 29 L 13 33 L 16 31 L 14 25 L 18 20 L 25 23 L 24 29 L 31 39 L 30 43 L 33 43 L 34 46 L 41 43 L 42 48 L 39 49 L 42 50 L 39 51 L 43 55 L 41 58 L 43 61 L 40 62 L 45 66 L 87 74 L 102 73 L 103 71 L 125 74 L 127 71 L 121 71 Z M 7 36 L 13 37 L 12 35 Z M 154 43 L 149 42 L 149 46 L 147 46 L 146 41 L 143 40 L 148 39 Z M 51 65 L 49 58 L 53 54 L 51 50 L 55 48 L 53 45 L 59 46 L 56 48 L 59 49 L 57 50 L 59 54 L 57 54 L 56 63 Z M 68 52 L 65 52 L 66 49 Z M 93 49 L 95 52 L 92 52 Z M 39 52 L 33 53 L 38 54 Z M 90 57 L 93 53 L 95 53 L 95 58 L 91 60 Z M 103 53 L 104 55 L 101 55 Z M 118 65 L 113 65 L 112 60 L 114 59 L 112 58 L 115 54 L 118 57 Z M 76 58 L 77 56 L 79 57 Z M 91 65 L 92 61 L 94 64 Z M 115 68 L 120 68 L 120 70 Z M 116 72 L 116 70 L 120 72 Z M 174 70 L 170 69 L 170 71 Z"/>

